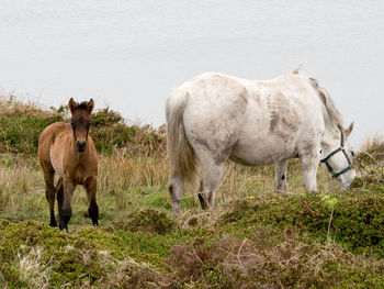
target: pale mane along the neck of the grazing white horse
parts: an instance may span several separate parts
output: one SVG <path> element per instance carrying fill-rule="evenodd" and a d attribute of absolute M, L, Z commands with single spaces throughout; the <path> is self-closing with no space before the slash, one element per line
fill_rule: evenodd
<path fill-rule="evenodd" d="M 320 101 L 323 102 L 327 114 L 325 121 L 328 122 L 335 129 L 342 131 L 342 116 L 339 110 L 335 107 L 332 99 L 329 97 L 328 92 L 318 85 L 315 78 L 309 77 L 312 86 L 317 90 Z"/>

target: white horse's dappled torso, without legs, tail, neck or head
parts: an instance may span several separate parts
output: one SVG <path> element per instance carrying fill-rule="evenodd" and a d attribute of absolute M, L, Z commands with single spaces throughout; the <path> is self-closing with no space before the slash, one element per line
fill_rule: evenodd
<path fill-rule="evenodd" d="M 204 140 L 208 149 L 223 153 L 216 153 L 219 159 L 272 164 L 295 156 L 303 138 L 318 142 L 324 132 L 317 91 L 301 75 L 251 81 L 211 73 L 183 88 L 188 140 Z"/>

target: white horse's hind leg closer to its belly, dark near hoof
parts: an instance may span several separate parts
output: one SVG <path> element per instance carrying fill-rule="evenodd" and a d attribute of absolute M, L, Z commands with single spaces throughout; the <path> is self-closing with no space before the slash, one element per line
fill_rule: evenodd
<path fill-rule="evenodd" d="M 199 189 L 199 200 L 203 210 L 212 209 L 215 204 L 216 189 L 222 179 L 225 162 L 216 162 L 212 157 L 203 158 L 202 181 Z"/>

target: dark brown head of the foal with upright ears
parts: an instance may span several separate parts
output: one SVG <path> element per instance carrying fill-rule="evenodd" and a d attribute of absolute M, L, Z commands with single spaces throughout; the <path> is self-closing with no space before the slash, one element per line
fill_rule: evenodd
<path fill-rule="evenodd" d="M 70 110 L 71 119 L 70 123 L 72 125 L 72 131 L 76 141 L 76 147 L 79 153 L 86 151 L 89 126 L 91 125 L 91 113 L 94 107 L 93 99 L 90 101 L 84 101 L 77 103 L 71 98 L 68 102 L 68 108 Z"/>

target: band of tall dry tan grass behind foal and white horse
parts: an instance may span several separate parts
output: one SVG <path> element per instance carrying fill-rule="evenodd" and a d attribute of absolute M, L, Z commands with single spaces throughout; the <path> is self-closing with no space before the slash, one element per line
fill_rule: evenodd
<path fill-rule="evenodd" d="M 34 194 L 35 199 L 46 207 L 45 182 L 36 157 L 22 158 L 13 155 L 2 155 L 0 163 L 0 210 L 7 207 L 10 214 L 18 214 L 32 204 L 25 203 L 26 196 Z M 111 156 L 100 155 L 98 196 L 113 196 L 126 200 L 129 194 L 147 188 L 148 190 L 167 191 L 169 164 L 166 156 L 150 157 L 132 155 L 129 151 L 115 149 Z M 326 171 L 319 169 L 318 182 L 321 191 L 338 189 Z M 298 160 L 292 160 L 289 166 L 290 193 L 304 192 L 302 171 Z M 81 187 L 80 187 L 81 188 Z M 183 198 L 194 199 L 196 209 L 199 181 L 187 187 Z M 228 163 L 217 189 L 218 203 L 245 199 L 260 193 L 274 191 L 273 166 L 245 167 Z"/>

